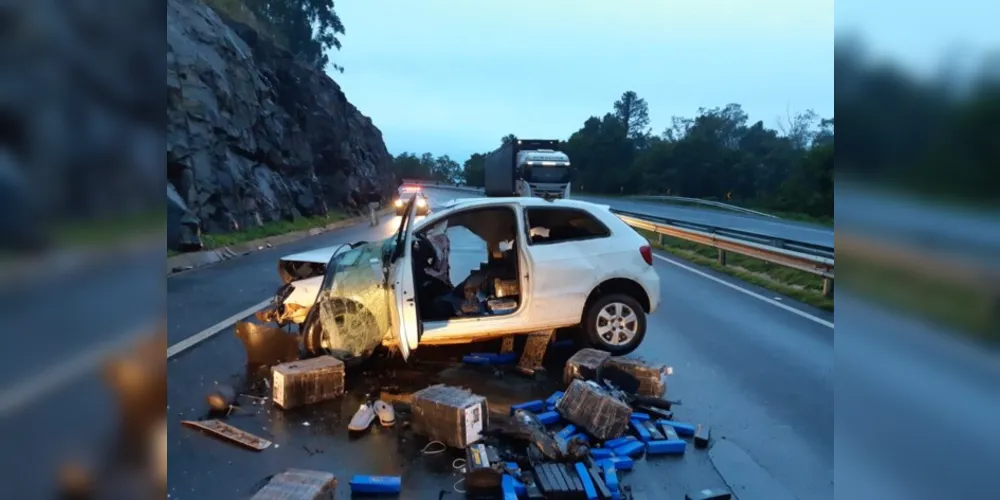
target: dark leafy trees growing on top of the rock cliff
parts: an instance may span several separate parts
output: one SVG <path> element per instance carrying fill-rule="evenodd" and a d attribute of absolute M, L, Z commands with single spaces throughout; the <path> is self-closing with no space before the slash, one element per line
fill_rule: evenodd
<path fill-rule="evenodd" d="M 283 40 L 286 48 L 304 63 L 326 70 L 327 49 L 340 50 L 344 25 L 334 11 L 333 0 L 245 0 L 246 6 Z M 333 64 L 341 73 L 344 68 Z"/>

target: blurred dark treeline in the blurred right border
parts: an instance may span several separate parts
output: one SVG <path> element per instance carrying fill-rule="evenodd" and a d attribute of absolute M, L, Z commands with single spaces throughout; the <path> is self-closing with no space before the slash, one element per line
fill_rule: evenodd
<path fill-rule="evenodd" d="M 838 41 L 838 175 L 1000 205 L 1000 63 L 983 62 L 976 72 L 946 63 L 938 76 L 918 78 L 875 62 L 858 40 Z"/>

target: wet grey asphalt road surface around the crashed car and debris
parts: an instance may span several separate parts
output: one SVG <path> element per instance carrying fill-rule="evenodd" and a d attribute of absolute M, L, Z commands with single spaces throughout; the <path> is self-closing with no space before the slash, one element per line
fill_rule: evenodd
<path fill-rule="evenodd" d="M 454 197 L 453 192 L 429 190 L 429 194 L 432 206 Z M 391 217 L 374 230 L 363 225 L 348 228 L 170 277 L 170 343 L 270 297 L 278 285 L 275 262 L 280 255 L 386 236 L 397 223 L 398 218 Z M 647 472 L 637 471 L 633 479 L 637 491 L 647 493 L 648 498 L 663 498 L 665 493 L 682 496 L 688 488 L 720 486 L 725 481 L 747 499 L 783 498 L 789 493 L 801 499 L 832 498 L 833 330 L 828 326 L 832 323 L 824 324 L 832 322 L 831 315 L 779 298 L 778 303 L 801 313 L 795 314 L 761 300 L 773 301 L 770 292 L 698 271 L 714 278 L 708 279 L 688 270 L 686 264 L 672 262 L 669 257 L 656 261 L 663 287 L 662 306 L 650 318 L 647 340 L 637 354 L 674 367 L 668 392 L 670 397 L 684 400 L 678 415 L 710 424 L 719 445 L 713 448 L 710 460 L 704 454 L 690 453 L 683 465 L 650 465 Z M 296 432 L 288 429 L 301 433 L 302 422 L 307 421 L 302 419 L 308 416 L 290 420 L 271 411 L 268 423 L 261 426 L 267 431 L 260 431 L 274 436 L 279 444 L 287 443 L 279 450 L 296 451 L 269 450 L 260 456 L 186 429 L 177 430 L 180 418 L 202 415 L 205 392 L 213 384 L 245 378 L 243 356 L 242 346 L 227 327 L 170 361 L 172 498 L 238 498 L 258 479 L 292 466 L 323 466 L 342 478 L 352 473 L 401 470 L 401 463 L 363 458 L 373 453 L 364 450 L 374 441 L 388 439 L 379 433 L 364 438 L 367 441 L 345 445 L 343 436 L 336 435 L 346 434 L 346 430 L 327 429 L 316 439 L 330 450 L 347 447 L 349 457 L 338 454 L 340 458 L 332 458 L 332 451 L 306 452 L 298 444 Z M 357 404 L 351 397 L 359 396 L 345 398 L 340 409 L 341 414 L 347 413 L 342 415 L 344 419 Z M 232 422 L 239 425 L 236 417 Z M 274 427 L 278 425 L 274 422 L 284 423 Z M 323 422 L 323 426 L 342 427 L 344 420 Z M 312 436 L 314 431 L 308 432 Z M 670 479 L 666 482 L 658 467 L 668 468 Z M 414 474 L 407 472 L 405 477 Z M 431 493 L 433 489 L 436 494 L 435 488 L 451 484 L 449 479 L 441 476 L 421 491 Z"/>

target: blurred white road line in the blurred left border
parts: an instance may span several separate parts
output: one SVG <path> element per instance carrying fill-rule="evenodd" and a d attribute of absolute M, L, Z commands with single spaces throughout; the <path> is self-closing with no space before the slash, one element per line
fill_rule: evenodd
<path fill-rule="evenodd" d="M 132 330 L 110 342 L 79 353 L 58 366 L 46 368 L 37 377 L 19 382 L 4 391 L 0 391 L 0 418 L 7 417 L 59 386 L 96 368 L 109 356 L 122 350 L 130 342 L 143 335 L 156 331 L 156 324 L 149 324 L 141 329 Z"/>

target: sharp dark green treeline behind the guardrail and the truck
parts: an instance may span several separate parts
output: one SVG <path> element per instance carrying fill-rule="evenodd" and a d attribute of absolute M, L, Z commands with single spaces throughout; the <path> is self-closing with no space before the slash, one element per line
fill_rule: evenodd
<path fill-rule="evenodd" d="M 832 118 L 807 111 L 769 128 L 749 123 L 738 104 L 674 117 L 654 134 L 646 101 L 625 92 L 562 147 L 574 165 L 574 192 L 686 196 L 832 217 L 833 138 Z M 468 184 L 482 185 L 484 159 L 477 153 L 465 162 Z"/>

